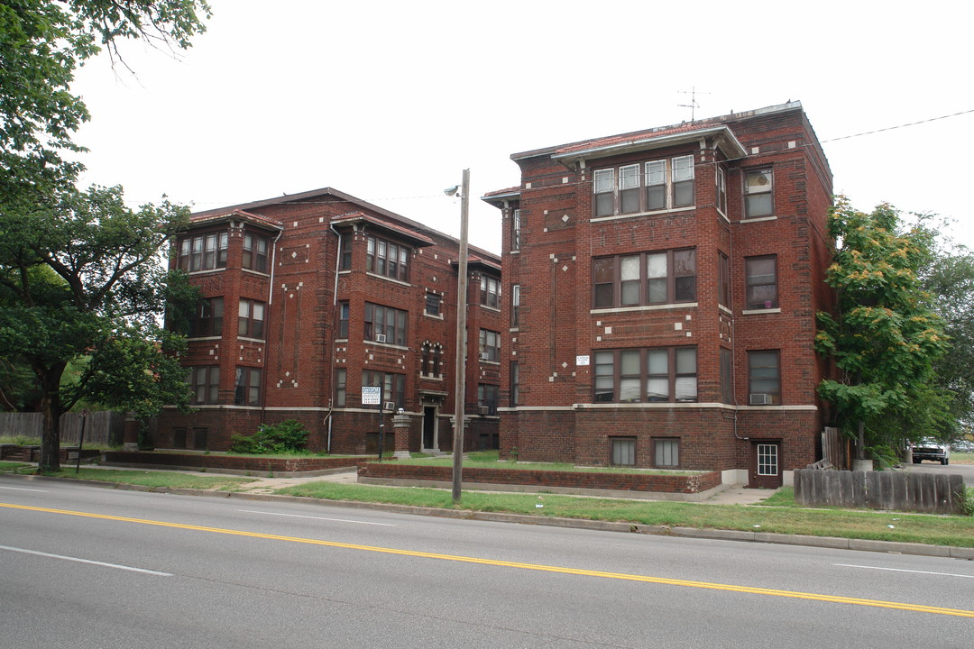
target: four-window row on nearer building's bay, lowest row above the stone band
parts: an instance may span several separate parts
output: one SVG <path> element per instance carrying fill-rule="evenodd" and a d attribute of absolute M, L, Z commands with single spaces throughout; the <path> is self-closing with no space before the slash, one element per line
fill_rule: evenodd
<path fill-rule="evenodd" d="M 696 347 L 600 349 L 594 353 L 596 403 L 696 401 Z"/>

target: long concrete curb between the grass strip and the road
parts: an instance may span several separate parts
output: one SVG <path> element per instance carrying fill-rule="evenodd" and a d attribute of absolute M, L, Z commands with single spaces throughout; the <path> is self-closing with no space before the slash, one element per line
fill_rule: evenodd
<path fill-rule="evenodd" d="M 924 557 L 974 560 L 974 548 L 955 548 L 953 546 L 925 545 L 922 543 L 872 541 L 869 539 L 846 539 L 835 536 L 807 536 L 802 534 L 773 534 L 770 532 L 742 531 L 737 529 L 703 529 L 697 527 L 670 527 L 668 525 L 642 525 L 639 523 L 587 521 L 584 519 L 546 518 L 543 516 L 531 516 L 528 514 L 503 514 L 497 512 L 473 512 L 470 510 L 435 509 L 431 507 L 413 507 L 411 505 L 356 502 L 353 500 L 324 500 L 320 498 L 309 498 L 306 496 L 276 495 L 271 493 L 245 493 L 243 491 L 213 491 L 210 489 L 142 487 L 140 485 L 100 483 L 97 481 L 81 480 L 78 478 L 47 478 L 44 476 L 18 477 L 24 480 L 59 481 L 79 485 L 89 485 L 93 487 L 116 488 L 125 491 L 146 491 L 152 493 L 171 493 L 174 495 L 208 496 L 211 498 L 238 498 L 241 500 L 255 500 L 262 502 L 282 501 L 302 504 L 341 505 L 342 507 L 351 507 L 354 509 L 393 512 L 396 514 L 410 514 L 414 516 L 435 516 L 443 519 L 467 519 L 470 521 L 487 521 L 492 523 L 547 525 L 551 527 L 571 527 L 574 529 L 591 529 L 605 532 L 628 532 L 680 538 L 745 541 L 749 543 L 774 543 L 781 545 L 798 545 L 811 548 L 829 548 L 832 550 L 856 550 L 863 552 L 884 552 L 898 555 L 919 555 Z"/>

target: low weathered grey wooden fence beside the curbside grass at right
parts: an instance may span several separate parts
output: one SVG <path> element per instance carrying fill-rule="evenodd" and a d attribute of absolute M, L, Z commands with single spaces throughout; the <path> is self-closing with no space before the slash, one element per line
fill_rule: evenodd
<path fill-rule="evenodd" d="M 961 476 L 910 471 L 795 471 L 795 502 L 809 507 L 963 514 Z"/>

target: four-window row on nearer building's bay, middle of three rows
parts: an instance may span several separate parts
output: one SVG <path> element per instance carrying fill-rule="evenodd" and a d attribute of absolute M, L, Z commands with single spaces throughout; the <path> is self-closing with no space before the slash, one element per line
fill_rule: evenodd
<path fill-rule="evenodd" d="M 592 260 L 592 306 L 663 305 L 696 300 L 696 250 L 663 250 Z"/>

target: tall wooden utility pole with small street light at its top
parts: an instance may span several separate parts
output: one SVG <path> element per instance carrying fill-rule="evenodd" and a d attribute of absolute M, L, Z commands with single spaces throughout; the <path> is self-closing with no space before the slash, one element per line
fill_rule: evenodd
<path fill-rule="evenodd" d="M 460 193 L 460 263 L 457 270 L 457 358 L 453 402 L 453 502 L 460 502 L 464 473 L 464 415 L 467 393 L 467 236 L 470 170 L 464 169 L 463 184 L 443 190 L 446 196 Z"/>

